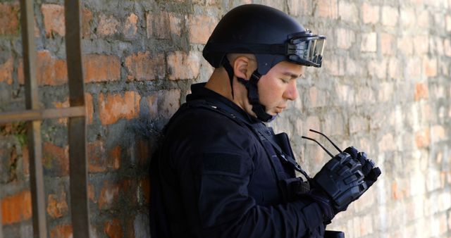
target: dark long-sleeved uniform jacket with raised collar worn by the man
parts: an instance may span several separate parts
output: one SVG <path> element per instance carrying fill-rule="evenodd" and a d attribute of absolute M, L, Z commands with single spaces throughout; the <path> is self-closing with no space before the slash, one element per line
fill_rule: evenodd
<path fill-rule="evenodd" d="M 271 132 L 232 101 L 192 85 L 166 128 L 158 168 L 171 237 L 323 236 L 319 206 L 284 201 L 278 182 L 294 169 L 248 124 Z"/>

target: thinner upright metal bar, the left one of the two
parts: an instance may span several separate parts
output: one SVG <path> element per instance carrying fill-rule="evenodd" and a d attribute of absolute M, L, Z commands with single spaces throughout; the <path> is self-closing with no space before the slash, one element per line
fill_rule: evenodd
<path fill-rule="evenodd" d="M 39 109 L 36 80 L 36 44 L 33 2 L 20 0 L 20 27 L 22 32 L 23 70 L 25 76 L 25 105 L 27 109 Z M 35 237 L 47 238 L 44 199 L 44 176 L 42 169 L 42 143 L 40 121 L 27 125 L 28 152 L 30 158 L 30 190 L 32 198 L 33 233 Z"/>

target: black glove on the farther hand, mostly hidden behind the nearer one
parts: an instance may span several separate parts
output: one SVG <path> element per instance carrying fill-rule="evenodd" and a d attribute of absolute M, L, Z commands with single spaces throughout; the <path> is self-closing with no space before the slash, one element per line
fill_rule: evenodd
<path fill-rule="evenodd" d="M 365 176 L 364 181 L 368 188 L 371 187 L 381 175 L 381 169 L 376 167 L 374 161 L 366 158 L 365 152 L 359 152 L 353 146 L 347 147 L 345 152 L 350 154 L 354 160 L 359 161 L 362 164 L 362 173 Z"/>

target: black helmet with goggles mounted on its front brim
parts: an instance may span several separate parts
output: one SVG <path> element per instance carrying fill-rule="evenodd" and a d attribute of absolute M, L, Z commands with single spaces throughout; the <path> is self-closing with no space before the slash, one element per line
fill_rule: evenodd
<path fill-rule="evenodd" d="M 214 68 L 228 53 L 254 54 L 258 73 L 266 75 L 280 61 L 321 67 L 325 40 L 276 8 L 248 4 L 223 16 L 202 54 Z"/>

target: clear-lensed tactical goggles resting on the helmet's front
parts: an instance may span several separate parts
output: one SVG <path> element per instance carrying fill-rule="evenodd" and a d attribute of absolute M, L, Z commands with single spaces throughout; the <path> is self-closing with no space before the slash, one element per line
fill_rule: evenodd
<path fill-rule="evenodd" d="M 313 35 L 310 30 L 288 36 L 286 54 L 290 61 L 306 66 L 321 67 L 326 37 Z"/>

